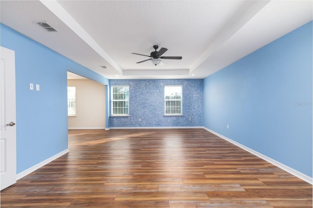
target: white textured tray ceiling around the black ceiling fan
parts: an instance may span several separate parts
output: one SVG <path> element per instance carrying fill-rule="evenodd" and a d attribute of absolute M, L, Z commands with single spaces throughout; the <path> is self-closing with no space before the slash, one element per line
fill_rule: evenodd
<path fill-rule="evenodd" d="M 1 23 L 109 79 L 204 78 L 312 20 L 312 0 L 1 0 L 0 9 Z M 182 59 L 136 64 L 148 57 L 131 53 L 153 45 Z"/>

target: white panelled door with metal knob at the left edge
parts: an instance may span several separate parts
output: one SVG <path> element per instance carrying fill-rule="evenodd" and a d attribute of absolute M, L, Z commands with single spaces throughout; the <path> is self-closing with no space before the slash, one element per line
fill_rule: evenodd
<path fill-rule="evenodd" d="M 0 51 L 0 188 L 16 183 L 15 52 Z"/>

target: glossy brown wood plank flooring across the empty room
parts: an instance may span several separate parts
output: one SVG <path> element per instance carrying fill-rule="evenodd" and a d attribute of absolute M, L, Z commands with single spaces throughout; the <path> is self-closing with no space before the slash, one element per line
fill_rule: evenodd
<path fill-rule="evenodd" d="M 1 208 L 312 208 L 312 185 L 204 129 L 69 130 Z"/>

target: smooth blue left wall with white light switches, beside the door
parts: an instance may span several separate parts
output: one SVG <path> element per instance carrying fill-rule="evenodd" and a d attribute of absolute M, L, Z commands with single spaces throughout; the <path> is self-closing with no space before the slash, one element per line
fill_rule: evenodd
<path fill-rule="evenodd" d="M 109 80 L 1 24 L 1 46 L 15 51 L 17 173 L 67 149 L 67 70 Z M 29 83 L 40 91 L 29 90 Z M 109 105 L 107 105 L 109 106 Z"/>

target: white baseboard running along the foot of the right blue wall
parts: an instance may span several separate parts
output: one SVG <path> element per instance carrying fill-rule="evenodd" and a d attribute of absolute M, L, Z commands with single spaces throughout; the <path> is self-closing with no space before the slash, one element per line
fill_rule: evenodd
<path fill-rule="evenodd" d="M 303 173 L 301 173 L 301 172 L 299 172 L 299 171 L 297 171 L 297 170 L 295 170 L 295 169 L 293 169 L 293 168 L 291 168 L 291 167 L 289 167 L 289 166 L 287 166 L 287 165 L 285 165 L 283 163 L 275 161 L 275 160 L 269 158 L 268 156 L 265 156 L 265 155 L 255 151 L 253 149 L 250 149 L 250 148 L 246 147 L 245 145 L 240 144 L 240 143 L 238 143 L 238 142 L 236 142 L 236 141 L 234 141 L 232 139 L 224 137 L 223 135 L 221 135 L 221 134 L 219 134 L 217 132 L 214 132 L 211 129 L 208 129 L 208 128 L 205 128 L 205 127 L 203 127 L 203 128 L 205 130 L 211 132 L 212 134 L 215 134 L 216 136 L 218 136 L 218 137 L 220 137 L 222 139 L 225 139 L 226 141 L 229 141 L 230 143 L 233 143 L 236 146 L 238 146 L 238 147 L 248 151 L 249 153 L 251 153 L 251 154 L 253 154 L 253 155 L 255 155 L 255 156 L 257 156 L 257 157 L 259 157 L 259 158 L 261 158 L 261 159 L 263 159 L 263 160 L 265 160 L 267 162 L 269 162 L 269 163 L 272 163 L 273 165 L 275 165 L 275 166 L 277 166 L 277 167 L 279 167 L 279 168 L 281 168 L 281 169 L 283 169 L 283 170 L 285 170 L 287 172 L 289 172 L 290 174 L 294 175 L 295 177 L 298 177 L 299 179 L 301 179 L 301 180 L 303 180 L 305 182 L 308 182 L 309 184 L 313 184 L 313 178 L 311 178 L 310 176 L 307 176 L 307 175 L 305 175 L 305 174 L 303 174 Z"/>

